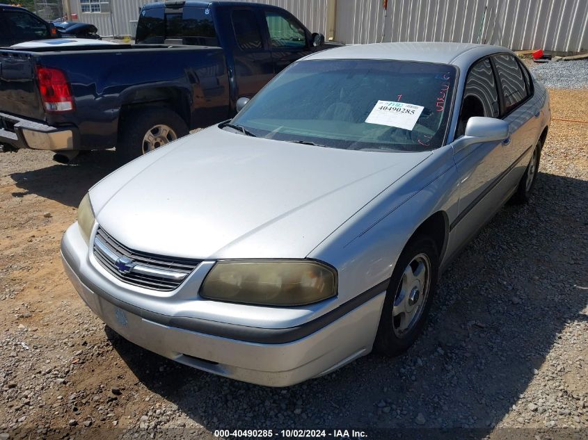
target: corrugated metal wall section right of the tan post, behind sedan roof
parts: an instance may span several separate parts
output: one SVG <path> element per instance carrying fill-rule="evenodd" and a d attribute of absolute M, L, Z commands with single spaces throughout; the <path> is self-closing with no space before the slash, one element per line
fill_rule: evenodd
<path fill-rule="evenodd" d="M 311 0 L 312 1 L 312 0 Z M 455 41 L 588 50 L 587 0 L 336 0 L 335 40 Z M 386 14 L 386 16 L 385 16 Z"/>

